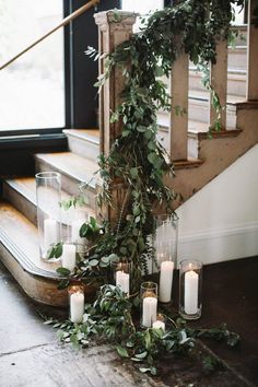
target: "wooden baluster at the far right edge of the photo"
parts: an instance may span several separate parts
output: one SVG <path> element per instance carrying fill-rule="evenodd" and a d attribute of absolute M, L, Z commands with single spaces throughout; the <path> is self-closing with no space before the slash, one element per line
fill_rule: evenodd
<path fill-rule="evenodd" d="M 247 30 L 247 101 L 258 99 L 258 28 L 251 25 L 251 19 L 258 0 L 249 0 Z"/>

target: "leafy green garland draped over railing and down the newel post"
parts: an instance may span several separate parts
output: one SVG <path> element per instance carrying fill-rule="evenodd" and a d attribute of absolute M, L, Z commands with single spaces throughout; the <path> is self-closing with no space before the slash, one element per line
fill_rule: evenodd
<path fill-rule="evenodd" d="M 164 183 L 164 177 L 173 176 L 174 171 L 165 149 L 156 139 L 156 112 L 171 108 L 166 85 L 160 77 L 168 77 L 177 57 L 181 52 L 188 54 L 204 73 L 203 83 L 212 94 L 216 112 L 215 129 L 220 129 L 222 107 L 209 83 L 209 63 L 216 60 L 218 42 L 232 39 L 233 4 L 243 4 L 243 0 L 180 1 L 153 13 L 148 21 L 143 20 L 144 27 L 140 33 L 105 57 L 105 72 L 98 77 L 96 86 L 102 87 L 113 69 L 119 67 L 125 89 L 122 103 L 112 116 L 112 122 L 122 121 L 121 134 L 115 139 L 109 155 L 99 156 L 103 190 L 98 195 L 98 206 L 117 206 L 112 198 L 114 179 L 124 181 L 127 194 L 121 208 L 116 208 L 116 224 L 104 222 L 101 234 L 98 230 L 91 232 L 92 221 L 82 226 L 80 235 L 91 242 L 91 249 L 80 260 L 72 277 L 105 283 L 106 269 L 115 254 L 115 258 L 126 257 L 132 262 L 133 292 L 138 292 L 142 271 L 146 272 L 146 257 L 153 256 L 150 244 L 153 209 L 159 207 L 173 213 L 173 202 L 178 197 Z M 115 13 L 114 17 L 119 21 L 119 14 Z M 104 55 L 92 48 L 86 54 Z M 184 114 L 180 107 L 173 108 Z M 75 206 L 78 201 L 81 201 L 80 197 L 72 198 L 64 207 Z M 60 245 L 50 253 L 51 257 L 60 254 Z M 62 269 L 59 273 L 67 277 L 61 286 L 67 285 L 71 273 Z"/>

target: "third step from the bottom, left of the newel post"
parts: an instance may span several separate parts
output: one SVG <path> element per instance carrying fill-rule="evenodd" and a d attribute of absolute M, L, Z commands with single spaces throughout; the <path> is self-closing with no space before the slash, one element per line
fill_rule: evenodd
<path fill-rule="evenodd" d="M 35 155 L 36 171 L 56 171 L 61 174 L 62 189 L 70 195 L 80 192 L 79 186 L 83 183 L 86 188 L 83 192 L 87 206 L 96 210 L 96 171 L 98 166 L 92 160 L 82 157 L 72 152 L 40 153 Z"/>

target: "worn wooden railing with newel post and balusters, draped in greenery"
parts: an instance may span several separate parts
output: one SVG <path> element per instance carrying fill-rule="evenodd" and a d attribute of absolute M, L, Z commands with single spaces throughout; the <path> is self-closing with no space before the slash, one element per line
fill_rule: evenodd
<path fill-rule="evenodd" d="M 257 5 L 258 0 L 249 1 L 249 22 L 247 28 L 247 42 L 243 45 L 248 46 L 247 55 L 247 87 L 246 98 L 243 96 L 242 102 L 258 99 L 258 28 L 255 28 L 250 24 L 250 14 L 254 8 Z M 110 11 L 107 13 L 101 13 L 96 15 L 96 23 L 99 27 L 99 44 L 101 50 L 110 52 L 116 44 L 121 43 L 132 34 L 132 25 L 134 17 L 132 14 L 120 12 L 120 22 L 114 22 Z M 236 30 L 237 26 L 233 26 Z M 239 34 L 246 31 L 246 26 L 239 27 Z M 241 43 L 238 38 L 238 45 Z M 242 47 L 243 48 L 243 47 Z M 232 49 L 232 48 L 231 48 Z M 210 68 L 210 83 L 216 92 L 220 104 L 224 106 L 221 110 L 221 117 L 219 119 L 222 131 L 236 129 L 234 127 L 236 118 L 236 105 L 231 102 L 227 104 L 227 43 L 220 42 L 216 47 L 216 63 Z M 101 59 L 99 70 L 104 68 L 104 60 Z M 171 116 L 166 116 L 168 122 L 168 130 L 166 139 L 168 152 L 174 161 L 181 161 L 188 159 L 188 126 L 189 126 L 189 59 L 188 56 L 181 54 L 177 61 L 174 63 L 171 77 L 171 96 L 172 96 L 172 112 Z M 168 80 L 167 80 L 168 82 Z M 120 132 L 121 127 L 109 122 L 109 112 L 114 110 L 115 106 L 119 102 L 119 93 L 122 89 L 122 77 L 119 71 L 114 71 L 114 74 L 104 86 L 101 95 L 99 113 L 101 113 L 101 130 L 102 130 L 102 151 L 105 154 L 108 153 L 110 143 L 114 138 Z M 207 131 L 209 127 L 213 127 L 215 119 L 218 118 L 212 106 L 212 101 L 208 101 L 209 93 L 204 94 L 204 106 L 207 112 Z M 198 99 L 198 98 L 196 98 Z M 235 101 L 235 103 L 239 102 Z M 200 98 L 200 104 L 201 104 Z M 227 108 L 226 108 L 227 105 Z M 186 113 L 180 114 L 184 109 Z M 179 114 L 178 114 L 179 110 Z M 164 117 L 165 113 L 161 113 Z M 198 128 L 197 128 L 198 131 Z M 203 131 L 203 125 L 201 128 Z"/>

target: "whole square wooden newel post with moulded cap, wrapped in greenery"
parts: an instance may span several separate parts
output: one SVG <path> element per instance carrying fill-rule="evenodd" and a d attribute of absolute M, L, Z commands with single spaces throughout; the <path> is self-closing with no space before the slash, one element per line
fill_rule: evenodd
<path fill-rule="evenodd" d="M 105 11 L 95 14 L 95 22 L 98 25 L 98 51 L 101 54 L 110 54 L 119 44 L 128 40 L 132 35 L 132 26 L 137 15 L 124 11 Z M 103 74 L 105 70 L 105 57 L 98 61 L 98 73 Z M 106 80 L 99 92 L 99 133 L 101 133 L 101 153 L 109 154 L 112 144 L 117 136 L 121 133 L 122 122 L 110 122 L 113 112 L 121 102 L 120 93 L 125 83 L 121 69 L 115 68 L 110 77 Z M 128 187 L 121 179 L 114 177 L 109 190 L 112 192 L 114 208 L 102 209 L 102 215 L 110 222 L 116 222 L 119 209 L 126 211 Z M 104 213 L 103 213 L 104 212 Z"/>

